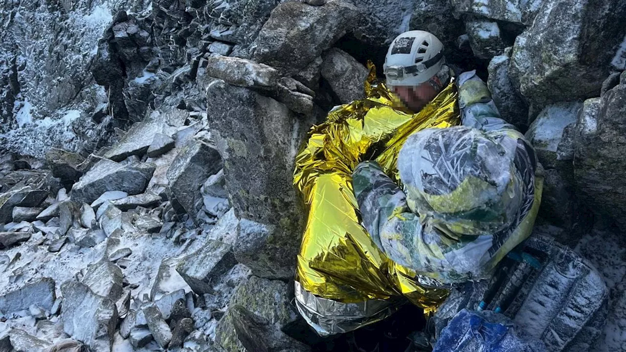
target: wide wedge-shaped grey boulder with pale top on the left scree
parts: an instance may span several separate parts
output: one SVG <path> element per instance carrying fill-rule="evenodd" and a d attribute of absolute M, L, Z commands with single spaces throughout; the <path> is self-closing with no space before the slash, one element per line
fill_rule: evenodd
<path fill-rule="evenodd" d="M 104 192 L 121 190 L 128 194 L 140 194 L 146 189 L 153 163 L 117 163 L 103 159 L 85 173 L 72 187 L 71 199 L 79 204 L 91 204 Z"/>

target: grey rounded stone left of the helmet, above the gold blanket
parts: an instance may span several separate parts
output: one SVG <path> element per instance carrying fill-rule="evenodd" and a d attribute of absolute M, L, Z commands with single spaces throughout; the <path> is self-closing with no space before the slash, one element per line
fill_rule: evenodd
<path fill-rule="evenodd" d="M 365 98 L 363 85 L 367 68 L 341 49 L 331 48 L 322 54 L 322 76 L 342 104 Z"/>

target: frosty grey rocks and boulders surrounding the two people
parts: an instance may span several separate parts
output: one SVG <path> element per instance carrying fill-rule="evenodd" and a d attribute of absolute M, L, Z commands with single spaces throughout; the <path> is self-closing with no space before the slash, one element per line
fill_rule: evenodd
<path fill-rule="evenodd" d="M 626 351 L 625 16 L 623 0 L 3 0 L 0 351 L 332 349 L 292 304 L 294 156 L 408 29 L 527 131 L 537 229 L 602 273 L 594 351 Z"/>

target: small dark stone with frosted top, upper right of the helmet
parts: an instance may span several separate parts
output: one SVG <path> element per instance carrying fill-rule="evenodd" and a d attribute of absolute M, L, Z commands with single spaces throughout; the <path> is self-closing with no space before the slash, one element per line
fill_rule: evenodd
<path fill-rule="evenodd" d="M 469 44 L 476 57 L 491 60 L 501 54 L 505 43 L 500 34 L 498 23 L 493 21 L 473 20 L 465 22 Z"/>

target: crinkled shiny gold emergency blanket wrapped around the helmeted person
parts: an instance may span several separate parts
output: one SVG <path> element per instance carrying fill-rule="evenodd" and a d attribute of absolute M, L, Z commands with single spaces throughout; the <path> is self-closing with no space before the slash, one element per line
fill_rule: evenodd
<path fill-rule="evenodd" d="M 361 225 L 351 175 L 359 162 L 375 159 L 399 182 L 396 162 L 404 141 L 424 128 L 458 125 L 458 93 L 452 80 L 411 114 L 384 84 L 373 85 L 376 70 L 368 67 L 366 98 L 335 108 L 326 122 L 312 127 L 295 160 L 294 185 L 309 209 L 297 288 L 346 304 L 404 296 L 429 313 L 448 291 L 421 286 L 414 271 L 378 249 Z"/>

